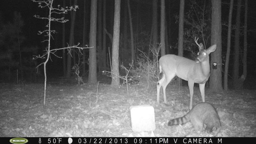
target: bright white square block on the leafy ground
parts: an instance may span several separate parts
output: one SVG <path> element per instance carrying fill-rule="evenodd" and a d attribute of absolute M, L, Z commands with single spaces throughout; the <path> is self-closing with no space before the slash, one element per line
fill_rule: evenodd
<path fill-rule="evenodd" d="M 130 107 L 132 131 L 154 131 L 155 109 L 150 105 L 138 105 Z"/>

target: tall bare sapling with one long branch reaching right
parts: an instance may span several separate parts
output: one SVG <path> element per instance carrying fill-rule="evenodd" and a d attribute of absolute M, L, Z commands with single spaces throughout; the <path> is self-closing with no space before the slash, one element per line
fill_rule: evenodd
<path fill-rule="evenodd" d="M 38 35 L 44 34 L 44 36 L 46 36 L 46 39 L 42 42 L 47 42 L 47 47 L 45 48 L 45 53 L 43 55 L 38 55 L 38 56 L 34 56 L 33 60 L 35 59 L 46 59 L 43 63 L 39 64 L 36 68 L 38 68 L 41 65 L 44 65 L 44 105 L 45 105 L 45 97 L 46 97 L 46 63 L 48 62 L 48 60 L 51 58 L 50 54 L 53 54 L 54 56 L 61 58 L 59 56 L 57 56 L 55 54 L 56 51 L 58 50 L 63 50 L 63 49 L 67 49 L 68 50 L 68 54 L 71 54 L 71 48 L 78 48 L 79 52 L 80 49 L 84 49 L 84 48 L 89 48 L 89 47 L 78 47 L 79 43 L 77 45 L 74 46 L 69 46 L 68 47 L 64 47 L 64 48 L 58 48 L 58 49 L 51 49 L 51 45 L 50 45 L 50 41 L 51 39 L 53 39 L 53 34 L 56 33 L 55 30 L 51 30 L 51 22 L 55 21 L 55 22 L 67 22 L 68 20 L 64 19 L 64 17 L 62 18 L 53 18 L 52 14 L 63 14 L 63 13 L 68 13 L 68 11 L 76 11 L 76 9 L 78 9 L 78 6 L 75 5 L 75 7 L 70 6 L 70 7 L 60 7 L 60 5 L 58 5 L 56 8 L 52 6 L 53 4 L 53 0 L 32 0 L 33 2 L 38 3 L 38 7 L 40 8 L 48 8 L 49 9 L 49 15 L 48 17 L 40 17 L 39 15 L 34 15 L 35 18 L 38 19 L 43 19 L 43 20 L 47 20 L 48 23 L 45 26 L 46 30 L 44 31 L 39 31 Z"/>

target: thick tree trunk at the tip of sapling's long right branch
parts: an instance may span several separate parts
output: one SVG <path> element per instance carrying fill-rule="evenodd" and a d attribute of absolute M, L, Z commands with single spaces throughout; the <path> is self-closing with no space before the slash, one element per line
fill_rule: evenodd
<path fill-rule="evenodd" d="M 89 76 L 88 83 L 97 83 L 97 59 L 96 59 L 96 26 L 97 26 L 97 0 L 91 2 L 90 20 L 90 48 L 89 50 Z"/>

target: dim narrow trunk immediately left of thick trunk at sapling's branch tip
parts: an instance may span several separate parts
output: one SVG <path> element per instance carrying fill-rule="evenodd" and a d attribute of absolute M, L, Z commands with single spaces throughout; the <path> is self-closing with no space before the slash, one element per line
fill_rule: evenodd
<path fill-rule="evenodd" d="M 83 47 L 86 45 L 86 0 L 84 0 L 84 16 L 83 16 Z M 83 74 L 86 73 L 85 71 L 85 49 L 83 49 Z"/>

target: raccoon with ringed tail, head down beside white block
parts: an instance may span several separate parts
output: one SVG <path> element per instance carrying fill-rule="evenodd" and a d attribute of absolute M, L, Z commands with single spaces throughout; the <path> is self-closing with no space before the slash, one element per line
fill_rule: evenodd
<path fill-rule="evenodd" d="M 171 119 L 168 125 L 179 125 L 191 122 L 196 130 L 212 132 L 216 136 L 220 130 L 220 118 L 216 109 L 207 102 L 200 102 L 185 116 Z"/>

